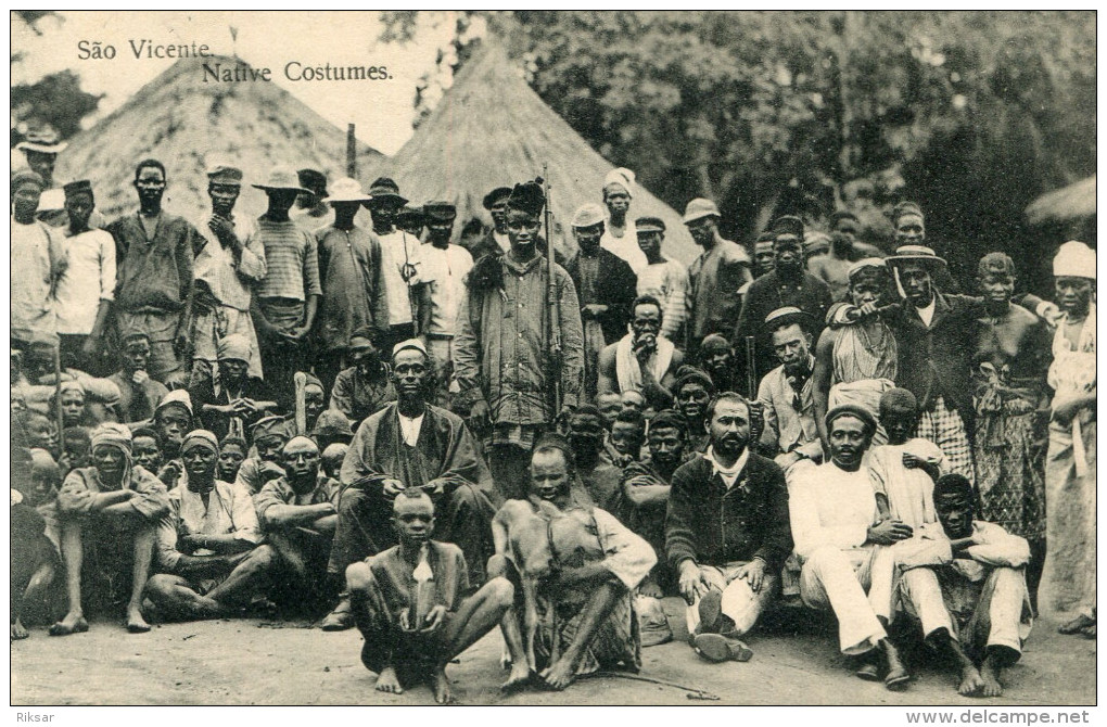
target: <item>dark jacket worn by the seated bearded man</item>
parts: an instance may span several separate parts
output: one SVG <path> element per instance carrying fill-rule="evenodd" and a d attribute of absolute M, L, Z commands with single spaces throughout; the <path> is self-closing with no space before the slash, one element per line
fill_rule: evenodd
<path fill-rule="evenodd" d="M 792 552 L 788 488 L 772 459 L 749 453 L 734 487 L 699 456 L 673 474 L 665 515 L 665 552 L 674 570 L 691 558 L 699 565 L 724 565 L 762 558 L 770 572 Z"/>

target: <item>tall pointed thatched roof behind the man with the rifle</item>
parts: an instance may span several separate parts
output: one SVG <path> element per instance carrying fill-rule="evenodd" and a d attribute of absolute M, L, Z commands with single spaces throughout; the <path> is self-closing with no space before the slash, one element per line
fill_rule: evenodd
<path fill-rule="evenodd" d="M 602 201 L 603 177 L 615 165 L 547 106 L 521 70 L 486 40 L 415 135 L 362 176 L 368 183 L 387 175 L 414 204 L 445 199 L 457 205 L 459 220 L 479 217 L 490 224 L 482 206 L 485 194 L 541 175 L 544 163 L 554 215 L 568 233 L 578 207 Z M 681 216 L 641 186 L 630 216 L 665 220 L 665 252 L 685 264 L 700 253 Z"/>

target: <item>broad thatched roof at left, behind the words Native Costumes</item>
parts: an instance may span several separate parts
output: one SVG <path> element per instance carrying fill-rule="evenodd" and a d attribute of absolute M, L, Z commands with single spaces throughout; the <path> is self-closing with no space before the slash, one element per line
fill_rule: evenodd
<path fill-rule="evenodd" d="M 167 210 L 196 220 L 210 210 L 205 159 L 218 156 L 245 174 L 241 214 L 265 211 L 262 180 L 277 164 L 312 167 L 330 178 L 345 176 L 345 131 L 340 129 L 275 83 L 204 82 L 201 60 L 213 69 L 237 59 L 182 59 L 138 90 L 123 106 L 70 141 L 58 157 L 54 178 L 64 184 L 89 178 L 96 207 L 112 219 L 136 208 L 132 180 L 139 160 L 166 166 Z M 245 65 L 245 63 L 242 63 Z M 359 168 L 375 164 L 380 152 L 360 144 Z"/>

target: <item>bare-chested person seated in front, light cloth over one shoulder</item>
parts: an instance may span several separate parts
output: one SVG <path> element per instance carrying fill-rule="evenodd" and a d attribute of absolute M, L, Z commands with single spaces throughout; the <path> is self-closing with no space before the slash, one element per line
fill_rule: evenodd
<path fill-rule="evenodd" d="M 488 574 L 508 575 L 523 591 L 501 623 L 511 657 L 503 689 L 526 684 L 531 669 L 563 689 L 601 668 L 642 666 L 632 596 L 656 555 L 606 510 L 573 501 L 572 461 L 563 437 L 539 437 L 527 499 L 505 502 L 493 522 Z"/>

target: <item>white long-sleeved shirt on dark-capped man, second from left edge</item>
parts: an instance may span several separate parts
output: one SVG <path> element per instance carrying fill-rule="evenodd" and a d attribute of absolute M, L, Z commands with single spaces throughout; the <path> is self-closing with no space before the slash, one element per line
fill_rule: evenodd
<path fill-rule="evenodd" d="M 104 230 L 89 230 L 62 243 L 69 268 L 54 291 L 58 332 L 87 335 L 96 322 L 100 301 L 115 298 L 115 240 Z"/>

